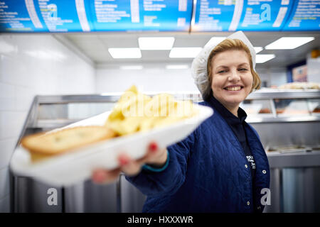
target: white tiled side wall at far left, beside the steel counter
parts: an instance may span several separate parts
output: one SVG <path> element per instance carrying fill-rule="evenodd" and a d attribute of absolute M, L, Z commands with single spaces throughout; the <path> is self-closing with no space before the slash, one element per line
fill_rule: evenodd
<path fill-rule="evenodd" d="M 52 35 L 0 35 L 0 212 L 9 211 L 8 165 L 33 96 L 95 93 L 95 68 Z"/>

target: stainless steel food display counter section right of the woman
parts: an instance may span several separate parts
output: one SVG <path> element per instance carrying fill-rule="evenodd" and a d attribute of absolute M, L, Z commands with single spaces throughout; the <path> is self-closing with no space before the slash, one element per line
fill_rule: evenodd
<path fill-rule="evenodd" d="M 270 163 L 265 212 L 320 211 L 320 91 L 261 89 L 241 104 Z"/>

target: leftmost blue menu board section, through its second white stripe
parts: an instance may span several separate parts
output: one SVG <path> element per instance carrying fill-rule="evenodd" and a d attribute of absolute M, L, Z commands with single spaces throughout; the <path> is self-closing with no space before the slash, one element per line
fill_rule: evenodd
<path fill-rule="evenodd" d="M 0 0 L 1 32 L 91 31 L 84 0 Z"/>

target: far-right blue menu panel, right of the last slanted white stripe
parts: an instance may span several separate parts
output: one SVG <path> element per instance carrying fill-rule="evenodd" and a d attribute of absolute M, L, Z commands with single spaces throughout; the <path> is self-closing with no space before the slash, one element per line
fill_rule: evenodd
<path fill-rule="evenodd" d="M 283 31 L 320 31 L 320 1 L 294 1 Z"/>

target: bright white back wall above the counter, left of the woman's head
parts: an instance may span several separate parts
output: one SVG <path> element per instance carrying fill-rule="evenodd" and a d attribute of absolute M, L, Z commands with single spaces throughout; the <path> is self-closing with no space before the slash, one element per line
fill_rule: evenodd
<path fill-rule="evenodd" d="M 123 92 L 135 84 L 141 92 L 198 92 L 191 70 L 166 70 L 164 64 L 146 65 L 142 70 L 119 70 L 119 67 L 98 67 L 98 93 Z"/>

